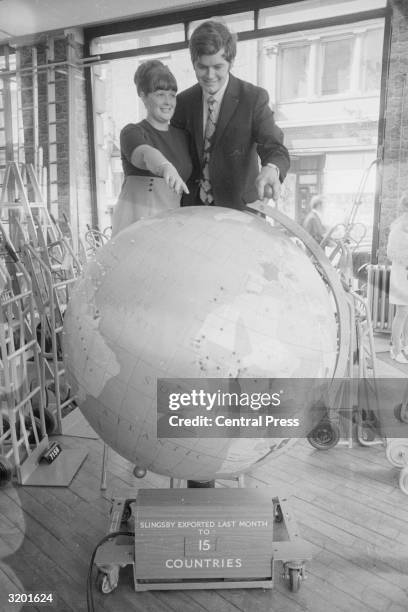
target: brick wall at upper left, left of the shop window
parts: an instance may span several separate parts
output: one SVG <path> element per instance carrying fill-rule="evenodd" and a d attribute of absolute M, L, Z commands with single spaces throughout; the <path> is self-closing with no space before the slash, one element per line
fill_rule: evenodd
<path fill-rule="evenodd" d="M 35 45 L 37 64 L 46 63 L 46 45 Z M 20 47 L 21 67 L 33 63 L 33 46 Z M 71 33 L 54 39 L 54 61 L 70 62 L 55 67 L 55 115 L 57 156 L 57 206 L 54 212 L 62 222 L 63 213 L 70 220 L 75 233 L 83 235 L 86 224 L 91 224 L 91 181 L 89 143 L 86 123 L 84 70 L 76 67 L 83 57 L 82 45 Z M 49 167 L 49 120 L 47 71 L 38 73 L 38 144 L 43 149 L 43 164 Z M 34 163 L 34 88 L 32 73 L 21 78 L 24 123 L 25 157 Z M 72 108 L 71 108 L 72 106 Z M 71 123 L 70 123 L 71 121 Z M 52 138 L 51 138 L 52 140 Z M 48 187 L 48 196 L 50 188 Z M 49 198 L 50 200 L 50 198 Z"/>

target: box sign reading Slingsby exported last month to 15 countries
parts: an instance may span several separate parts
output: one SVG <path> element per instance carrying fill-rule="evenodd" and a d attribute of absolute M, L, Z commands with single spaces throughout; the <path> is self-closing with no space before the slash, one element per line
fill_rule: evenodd
<path fill-rule="evenodd" d="M 132 514 L 135 583 L 272 579 L 274 507 L 266 488 L 143 489 Z"/>

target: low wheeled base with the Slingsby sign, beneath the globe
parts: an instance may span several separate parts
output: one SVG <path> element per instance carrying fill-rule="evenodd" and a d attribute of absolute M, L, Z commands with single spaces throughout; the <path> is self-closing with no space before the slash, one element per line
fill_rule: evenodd
<path fill-rule="evenodd" d="M 287 499 L 267 487 L 139 489 L 112 501 L 109 533 L 119 537 L 95 556 L 102 593 L 118 586 L 126 565 L 135 591 L 271 589 L 277 563 L 291 591 L 306 577 L 311 545 L 299 537 Z"/>

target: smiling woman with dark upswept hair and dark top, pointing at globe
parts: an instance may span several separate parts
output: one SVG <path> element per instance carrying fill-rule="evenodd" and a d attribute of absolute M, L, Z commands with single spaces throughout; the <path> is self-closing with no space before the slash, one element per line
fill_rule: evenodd
<path fill-rule="evenodd" d="M 136 70 L 137 93 L 146 119 L 129 123 L 120 133 L 125 180 L 113 211 L 112 236 L 142 217 L 177 208 L 191 174 L 187 135 L 170 125 L 176 106 L 177 83 L 158 60 Z"/>

